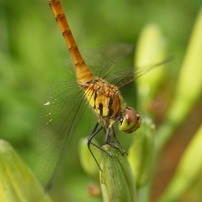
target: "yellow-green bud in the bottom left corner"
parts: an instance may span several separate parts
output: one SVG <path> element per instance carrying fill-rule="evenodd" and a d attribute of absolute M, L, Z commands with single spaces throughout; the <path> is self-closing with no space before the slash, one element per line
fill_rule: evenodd
<path fill-rule="evenodd" d="M 0 200 L 51 201 L 44 189 L 7 142 L 0 140 Z"/>

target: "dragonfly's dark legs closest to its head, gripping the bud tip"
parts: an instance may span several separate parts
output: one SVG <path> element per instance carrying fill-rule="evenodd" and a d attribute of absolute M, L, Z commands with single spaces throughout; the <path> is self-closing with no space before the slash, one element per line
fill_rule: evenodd
<path fill-rule="evenodd" d="M 111 135 L 111 129 L 112 129 L 112 135 Z M 120 142 L 116 138 L 116 133 L 114 130 L 114 127 L 112 126 L 111 128 L 107 128 L 106 132 L 106 144 L 118 149 L 122 155 L 127 155 L 127 152 L 122 148 Z"/>

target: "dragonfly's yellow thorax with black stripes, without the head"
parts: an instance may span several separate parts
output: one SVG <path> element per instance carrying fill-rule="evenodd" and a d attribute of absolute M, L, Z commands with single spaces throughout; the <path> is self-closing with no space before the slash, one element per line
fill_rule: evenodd
<path fill-rule="evenodd" d="M 117 86 L 95 77 L 83 87 L 89 104 L 102 118 L 117 119 L 122 112 L 122 96 Z"/>

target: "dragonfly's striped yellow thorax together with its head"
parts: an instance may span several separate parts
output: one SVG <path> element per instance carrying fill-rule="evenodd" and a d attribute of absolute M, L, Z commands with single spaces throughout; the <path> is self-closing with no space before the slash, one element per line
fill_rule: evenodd
<path fill-rule="evenodd" d="M 104 123 L 112 125 L 114 122 L 119 122 L 119 130 L 124 133 L 131 133 L 140 127 L 140 115 L 135 109 L 124 105 L 117 86 L 99 77 L 80 86 L 85 91 L 88 103 Z"/>

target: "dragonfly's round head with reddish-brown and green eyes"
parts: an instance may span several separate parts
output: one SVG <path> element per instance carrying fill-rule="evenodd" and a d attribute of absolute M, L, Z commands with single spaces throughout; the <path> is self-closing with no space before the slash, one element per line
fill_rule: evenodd
<path fill-rule="evenodd" d="M 119 123 L 119 130 L 124 133 L 132 133 L 141 125 L 142 119 L 132 107 L 126 107 Z"/>

